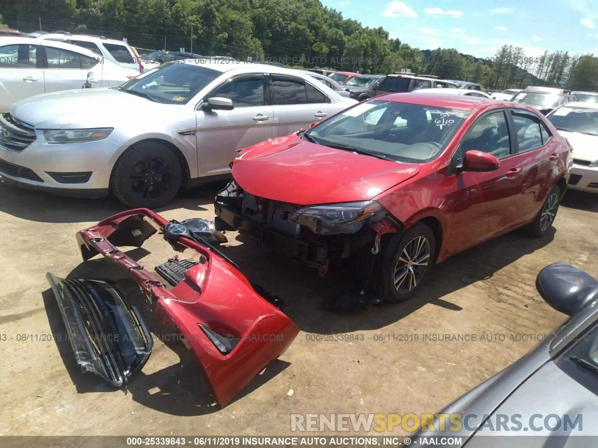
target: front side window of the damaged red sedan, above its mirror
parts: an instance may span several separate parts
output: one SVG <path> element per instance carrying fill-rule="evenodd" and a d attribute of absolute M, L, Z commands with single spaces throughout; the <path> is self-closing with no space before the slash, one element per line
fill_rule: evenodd
<path fill-rule="evenodd" d="M 497 158 L 511 154 L 507 119 L 503 111 L 488 113 L 478 118 L 461 141 L 461 151 L 482 151 Z"/>

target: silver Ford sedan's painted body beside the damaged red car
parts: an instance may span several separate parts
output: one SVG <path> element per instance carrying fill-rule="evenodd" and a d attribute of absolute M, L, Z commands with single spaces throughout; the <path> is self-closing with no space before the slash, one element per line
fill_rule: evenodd
<path fill-rule="evenodd" d="M 179 62 L 180 63 L 180 62 Z M 194 60 L 184 63 L 197 63 Z M 312 76 L 271 65 L 236 61 L 201 62 L 199 65 L 221 72 L 186 104 L 151 102 L 133 94 L 109 88 L 92 88 L 42 94 L 16 103 L 11 114 L 35 128 L 36 139 L 16 152 L 0 146 L 0 162 L 33 170 L 43 182 L 0 175 L 23 186 L 42 188 L 59 194 L 101 197 L 108 194 L 117 159 L 130 146 L 142 140 L 158 140 L 179 151 L 188 168 L 191 185 L 228 177 L 239 149 L 272 137 L 286 136 L 310 123 L 320 121 L 355 100 L 339 96 Z M 147 76 L 152 70 L 142 73 Z M 265 105 L 235 108 L 231 111 L 203 111 L 200 107 L 214 89 L 237 75 L 252 73 L 300 78 L 320 90 L 329 103 Z M 114 128 L 103 140 L 86 143 L 49 144 L 42 130 Z M 48 173 L 92 172 L 84 183 L 59 183 Z M 78 190 L 78 192 L 75 192 Z"/>

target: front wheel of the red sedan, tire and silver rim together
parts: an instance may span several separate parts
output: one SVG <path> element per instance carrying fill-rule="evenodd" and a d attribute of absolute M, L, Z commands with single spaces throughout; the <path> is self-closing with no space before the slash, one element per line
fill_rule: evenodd
<path fill-rule="evenodd" d="M 382 300 L 410 299 L 432 270 L 435 250 L 434 232 L 422 222 L 416 222 L 405 234 L 393 235 L 383 253 Z"/>

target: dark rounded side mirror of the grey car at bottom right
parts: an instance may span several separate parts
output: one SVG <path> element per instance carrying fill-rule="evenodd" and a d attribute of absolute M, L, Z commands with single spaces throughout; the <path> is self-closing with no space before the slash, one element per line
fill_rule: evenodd
<path fill-rule="evenodd" d="M 598 300 L 598 281 L 566 263 L 542 269 L 536 277 L 536 289 L 548 305 L 568 316 Z"/>

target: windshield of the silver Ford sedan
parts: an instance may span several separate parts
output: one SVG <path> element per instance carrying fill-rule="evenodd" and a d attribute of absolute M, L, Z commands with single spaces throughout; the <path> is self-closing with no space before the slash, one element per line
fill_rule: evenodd
<path fill-rule="evenodd" d="M 218 70 L 191 63 L 167 63 L 125 82 L 118 90 L 165 104 L 186 104 L 218 76 Z"/>

